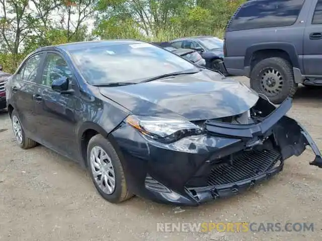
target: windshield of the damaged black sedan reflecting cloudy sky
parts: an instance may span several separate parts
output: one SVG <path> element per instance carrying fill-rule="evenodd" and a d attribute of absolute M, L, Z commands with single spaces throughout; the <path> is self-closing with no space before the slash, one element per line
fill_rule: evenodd
<path fill-rule="evenodd" d="M 159 75 L 197 70 L 189 61 L 148 43 L 89 47 L 70 54 L 92 85 L 138 83 Z"/>

